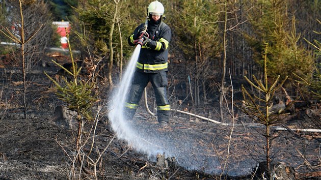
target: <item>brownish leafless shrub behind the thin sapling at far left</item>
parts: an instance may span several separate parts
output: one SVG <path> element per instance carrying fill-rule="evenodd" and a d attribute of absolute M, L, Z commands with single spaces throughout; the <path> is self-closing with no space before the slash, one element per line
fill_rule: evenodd
<path fill-rule="evenodd" d="M 23 4 L 24 3 L 24 4 Z M 9 0 L 7 6 L 10 7 L 9 18 L 12 25 L 12 34 L 16 38 L 21 38 L 21 17 L 19 1 Z M 32 37 L 24 44 L 25 66 L 27 71 L 31 71 L 38 65 L 45 54 L 45 50 L 52 43 L 51 36 L 53 29 L 51 27 L 51 14 L 48 5 L 44 1 L 24 1 L 22 2 L 22 12 L 24 19 L 24 37 Z M 42 26 L 41 29 L 39 29 Z M 39 29 L 37 34 L 35 31 Z M 21 53 L 12 54 L 12 62 L 19 62 Z M 21 63 L 19 63 L 21 64 Z M 21 67 L 21 65 L 19 65 Z"/>

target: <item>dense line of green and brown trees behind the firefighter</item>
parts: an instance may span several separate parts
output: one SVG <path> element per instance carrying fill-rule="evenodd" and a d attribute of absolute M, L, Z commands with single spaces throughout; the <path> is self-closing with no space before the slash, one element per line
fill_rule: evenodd
<path fill-rule="evenodd" d="M 51 21 L 70 21 L 71 46 L 81 50 L 85 59 L 92 56 L 99 64 L 99 75 L 112 88 L 121 78 L 132 47 L 127 37 L 145 21 L 146 8 L 151 1 L 137 0 L 25 0 L 28 14 L 26 33 L 43 24 L 41 32 L 28 46 L 27 62 L 32 68 L 40 61 L 46 47 L 56 41 Z M 319 70 L 320 59 L 307 42 L 319 40 L 321 3 L 317 0 L 193 0 L 160 1 L 165 6 L 167 23 L 172 29 L 170 43 L 170 88 L 188 97 L 194 106 L 219 102 L 229 91 L 229 74 L 235 84 L 252 75 L 262 76 L 265 43 L 270 49 L 268 75 L 288 76 L 284 86 L 291 96 L 298 96 L 294 73 L 306 78 Z M 0 1 L 1 28 L 17 22 L 17 3 Z M 41 11 L 40 11 L 41 10 Z M 42 12 L 43 11 L 43 12 Z M 39 14 L 41 13 L 41 14 Z M 30 30 L 28 30 L 30 29 Z M 47 29 L 51 29 L 48 31 Z M 81 37 L 81 38 L 79 38 Z M 7 41 L 1 36 L 1 41 Z M 305 41 L 304 38 L 307 40 Z M 36 53 L 37 52 L 37 53 Z M 2 53 L 9 53 L 3 49 Z M 39 54 L 39 56 L 35 56 Z M 179 90 L 175 90 L 173 87 Z M 239 85 L 236 86 L 239 88 Z M 240 90 L 240 89 L 238 89 Z M 181 92 L 175 92 L 181 91 Z M 219 98 L 220 97 L 220 98 Z M 222 112 L 221 112 L 222 113 Z M 221 117 L 223 115 L 221 114 Z"/>

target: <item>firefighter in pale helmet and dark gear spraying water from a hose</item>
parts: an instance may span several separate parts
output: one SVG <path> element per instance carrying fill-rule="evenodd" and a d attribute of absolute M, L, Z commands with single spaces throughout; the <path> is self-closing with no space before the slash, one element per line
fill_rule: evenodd
<path fill-rule="evenodd" d="M 132 119 L 144 88 L 150 81 L 157 103 L 157 121 L 161 125 L 167 125 L 170 117 L 170 105 L 167 98 L 166 87 L 168 67 L 168 46 L 171 40 L 170 27 L 162 22 L 165 19 L 164 6 L 158 1 L 149 4 L 147 9 L 148 25 L 142 23 L 136 27 L 128 43 L 136 46 L 138 39 L 143 39 L 142 48 L 136 64 L 128 99 L 125 103 L 127 118 Z M 143 37 L 141 35 L 144 35 Z"/>

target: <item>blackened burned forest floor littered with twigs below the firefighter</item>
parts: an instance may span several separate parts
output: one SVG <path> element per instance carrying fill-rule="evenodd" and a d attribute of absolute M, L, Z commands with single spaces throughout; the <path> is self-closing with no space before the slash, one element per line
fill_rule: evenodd
<path fill-rule="evenodd" d="M 45 68 L 44 71 L 51 75 L 59 70 L 52 65 Z M 21 92 L 18 91 L 21 80 L 15 73 L 1 72 L 0 179 L 72 177 L 76 129 L 59 127 L 53 121 L 53 112 L 61 102 L 52 86 L 49 88 L 49 79 L 41 73 L 42 70 L 30 74 L 32 83 L 28 99 L 32 104 L 28 118 L 24 119 L 19 103 Z M 105 96 L 103 98 L 107 98 Z M 189 109 L 187 106 L 180 108 Z M 196 114 L 219 119 L 208 114 L 215 112 L 215 108 L 207 105 L 193 110 Z M 320 112 L 316 111 L 319 108 L 319 104 L 315 104 L 293 112 L 284 118 L 282 125 L 292 129 L 314 129 L 310 122 L 320 120 Z M 140 108 L 133 128 L 149 138 L 162 137 L 157 142 L 164 143 L 158 145 L 169 150 L 170 158 L 174 156 L 177 160 L 177 163 L 169 161 L 169 168 L 164 168 L 155 162 L 155 157 L 137 152 L 131 144 L 117 138 L 105 116 L 102 114 L 98 122 L 86 123 L 84 129 L 84 137 L 89 137 L 92 125 L 97 125 L 94 142 L 89 138 L 84 148 L 87 153 L 94 144 L 92 159 L 108 146 L 99 161 L 98 179 L 218 179 L 224 178 L 224 175 L 220 176 L 222 170 L 229 174 L 229 179 L 251 179 L 256 164 L 264 161 L 264 127 L 250 118 L 236 118 L 235 126 L 222 126 L 173 112 L 170 126 L 161 128 L 154 117 Z M 320 133 L 278 131 L 275 128 L 272 132 L 274 162 L 292 166 L 297 178 L 317 179 L 320 176 Z M 227 156 L 228 162 L 224 166 Z M 88 175 L 87 178 L 94 176 Z"/>

